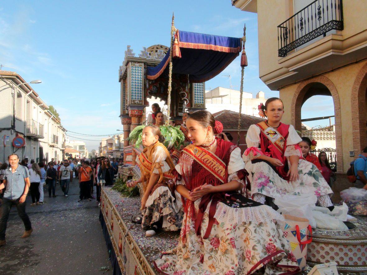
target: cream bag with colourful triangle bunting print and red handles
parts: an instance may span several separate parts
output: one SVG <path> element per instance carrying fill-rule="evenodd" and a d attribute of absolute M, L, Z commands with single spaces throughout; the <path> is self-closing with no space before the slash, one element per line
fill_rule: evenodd
<path fill-rule="evenodd" d="M 287 239 L 291 251 L 301 271 L 306 267 L 307 245 L 312 242 L 312 228 L 308 219 L 283 215 L 284 221 L 280 222 L 283 236 Z M 310 235 L 310 236 L 309 236 Z"/>

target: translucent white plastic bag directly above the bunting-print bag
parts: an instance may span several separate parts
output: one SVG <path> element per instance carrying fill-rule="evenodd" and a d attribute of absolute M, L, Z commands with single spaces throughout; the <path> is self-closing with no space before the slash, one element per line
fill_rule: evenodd
<path fill-rule="evenodd" d="M 317 197 L 313 194 L 283 195 L 274 200 L 279 207 L 279 213 L 306 218 L 313 228 L 316 228 L 316 221 L 312 216 L 312 209 L 316 202 Z"/>

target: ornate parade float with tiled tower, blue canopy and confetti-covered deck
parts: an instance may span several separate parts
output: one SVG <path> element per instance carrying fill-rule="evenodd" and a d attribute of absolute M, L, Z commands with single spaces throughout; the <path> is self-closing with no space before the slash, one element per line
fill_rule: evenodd
<path fill-rule="evenodd" d="M 124 128 L 124 166 L 120 166 L 119 176 L 124 181 L 140 176 L 135 162 L 141 152 L 137 146 L 139 135 L 135 135 L 139 129 L 135 132 L 134 129 L 144 124 L 148 98 L 163 100 L 168 106 L 167 117 L 180 125 L 185 110 L 205 109 L 204 82 L 222 72 L 241 50 L 242 96 L 244 67 L 247 66 L 245 31 L 246 28 L 242 38 L 185 32 L 175 28 L 172 17 L 170 48 L 154 45 L 143 48 L 136 57 L 128 46 L 119 70 L 120 117 Z M 239 117 L 239 131 L 240 121 Z M 141 225 L 132 220 L 133 216 L 139 215 L 139 209 L 140 197 L 122 197 L 112 188 L 102 188 L 100 220 L 113 274 L 157 274 L 153 261 L 161 256 L 161 251 L 177 246 L 179 232 L 161 232 L 153 238 L 145 237 Z M 308 268 L 303 273 L 307 274 L 313 265 L 331 262 L 338 264 L 339 272 L 366 272 L 366 224 L 365 217 L 357 217 L 357 221 L 349 223 L 347 231 L 313 230 L 313 234 L 307 237 L 312 238 L 312 242 L 307 247 Z"/>

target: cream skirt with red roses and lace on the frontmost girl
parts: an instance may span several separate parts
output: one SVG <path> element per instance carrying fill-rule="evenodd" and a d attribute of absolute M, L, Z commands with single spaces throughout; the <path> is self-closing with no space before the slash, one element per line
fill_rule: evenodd
<path fill-rule="evenodd" d="M 198 236 L 190 208 L 197 213 L 200 199 L 189 203 L 176 253 L 155 261 L 156 269 L 163 274 L 251 274 L 264 265 L 271 274 L 298 272 L 278 223 L 283 217 L 269 206 L 238 208 L 218 202 L 210 235 L 203 239 L 209 205 Z"/>

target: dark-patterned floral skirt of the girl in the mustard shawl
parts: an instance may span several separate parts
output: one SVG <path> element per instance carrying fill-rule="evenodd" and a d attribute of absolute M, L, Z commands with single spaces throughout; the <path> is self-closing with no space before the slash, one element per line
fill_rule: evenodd
<path fill-rule="evenodd" d="M 151 224 L 163 219 L 162 230 L 179 230 L 183 217 L 182 203 L 180 202 L 181 197 L 174 198 L 167 186 L 158 187 L 150 194 L 142 211 L 142 228 L 146 229 Z"/>

